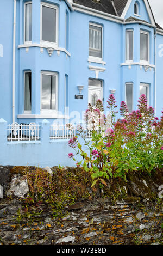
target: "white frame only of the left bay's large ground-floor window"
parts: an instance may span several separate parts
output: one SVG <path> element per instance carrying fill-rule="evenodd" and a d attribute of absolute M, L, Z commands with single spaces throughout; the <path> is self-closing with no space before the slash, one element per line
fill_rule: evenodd
<path fill-rule="evenodd" d="M 56 77 L 56 109 L 42 109 L 42 75 L 49 75 Z M 41 93 L 40 93 L 40 112 L 41 114 L 52 114 L 58 112 L 58 73 L 50 71 L 41 71 Z"/>

